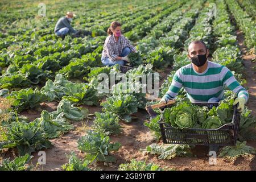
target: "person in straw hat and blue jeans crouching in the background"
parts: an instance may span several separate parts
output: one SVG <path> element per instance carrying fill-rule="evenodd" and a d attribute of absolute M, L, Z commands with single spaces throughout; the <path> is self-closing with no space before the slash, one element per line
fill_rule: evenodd
<path fill-rule="evenodd" d="M 54 29 L 55 34 L 62 39 L 64 39 L 67 34 L 76 34 L 77 31 L 74 30 L 70 24 L 75 16 L 75 14 L 68 11 L 66 16 L 60 18 Z"/>

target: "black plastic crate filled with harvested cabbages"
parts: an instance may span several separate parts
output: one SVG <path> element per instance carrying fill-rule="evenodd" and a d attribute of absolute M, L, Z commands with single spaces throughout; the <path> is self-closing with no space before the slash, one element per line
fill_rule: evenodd
<path fill-rule="evenodd" d="M 193 105 L 218 106 L 218 102 L 197 102 L 193 103 Z M 160 118 L 159 125 L 163 143 L 235 146 L 238 137 L 240 114 L 237 111 L 237 105 L 234 105 L 233 109 L 232 122 L 218 129 L 176 129 L 163 122 L 163 118 Z"/>

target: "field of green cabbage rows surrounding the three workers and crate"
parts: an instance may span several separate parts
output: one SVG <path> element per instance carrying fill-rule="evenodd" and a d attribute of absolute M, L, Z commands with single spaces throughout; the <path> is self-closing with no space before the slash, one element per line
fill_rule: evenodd
<path fill-rule="evenodd" d="M 256 170 L 255 1 L 3 0 L 0 10 L 1 171 Z M 56 36 L 55 24 L 67 11 L 77 15 L 72 26 L 92 36 Z M 118 65 L 101 63 L 114 20 L 138 50 L 123 75 L 159 73 L 159 98 L 174 73 L 191 63 L 193 40 L 203 40 L 209 60 L 229 68 L 249 91 L 237 146 L 221 147 L 216 164 L 209 163 L 207 146 L 163 144 L 158 121 L 168 108 L 151 119 L 144 108 L 159 102 L 152 94 L 119 92 L 118 81 L 113 92 L 99 92 L 100 73 L 121 73 Z M 177 106 L 201 117 L 185 102 L 181 89 Z M 220 125 L 203 128 L 230 123 L 233 102 L 226 90 L 222 104 L 204 116 Z"/>

